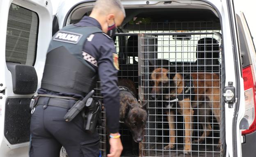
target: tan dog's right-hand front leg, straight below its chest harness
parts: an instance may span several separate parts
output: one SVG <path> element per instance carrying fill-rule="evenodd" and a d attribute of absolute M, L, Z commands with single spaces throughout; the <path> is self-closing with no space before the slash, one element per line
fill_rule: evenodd
<path fill-rule="evenodd" d="M 185 123 L 184 154 L 188 155 L 191 152 L 192 122 L 194 111 L 191 108 L 190 99 L 184 99 L 183 102 L 180 102 L 179 104 L 181 106 L 181 114 L 184 117 Z"/>

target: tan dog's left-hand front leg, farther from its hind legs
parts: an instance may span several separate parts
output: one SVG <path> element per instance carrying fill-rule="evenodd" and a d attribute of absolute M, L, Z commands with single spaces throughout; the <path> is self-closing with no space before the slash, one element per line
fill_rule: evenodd
<path fill-rule="evenodd" d="M 167 120 L 169 123 L 169 137 L 170 137 L 170 141 L 169 144 L 167 146 L 165 146 L 164 149 L 174 149 L 175 147 L 175 123 L 174 123 L 174 114 L 175 112 L 173 110 L 167 111 Z"/>

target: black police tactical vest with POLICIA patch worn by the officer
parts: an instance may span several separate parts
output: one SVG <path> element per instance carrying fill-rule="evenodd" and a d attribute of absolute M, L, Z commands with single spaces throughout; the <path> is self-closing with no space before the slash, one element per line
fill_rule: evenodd
<path fill-rule="evenodd" d="M 58 31 L 48 49 L 41 87 L 50 91 L 85 96 L 96 84 L 96 70 L 83 59 L 87 38 L 102 32 L 98 27 L 75 27 Z"/>

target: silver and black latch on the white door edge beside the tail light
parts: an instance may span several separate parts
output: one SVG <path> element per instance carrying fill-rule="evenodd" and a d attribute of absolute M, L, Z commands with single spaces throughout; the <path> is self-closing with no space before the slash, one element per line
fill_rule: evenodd
<path fill-rule="evenodd" d="M 235 102 L 235 87 L 233 86 L 233 82 L 229 82 L 229 86 L 224 88 L 223 97 L 225 98 L 225 103 L 229 104 L 229 108 L 233 108 Z"/>

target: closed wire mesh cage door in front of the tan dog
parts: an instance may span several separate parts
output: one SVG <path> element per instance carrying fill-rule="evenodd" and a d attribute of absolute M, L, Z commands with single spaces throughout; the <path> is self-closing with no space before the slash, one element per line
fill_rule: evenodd
<path fill-rule="evenodd" d="M 149 102 L 140 156 L 222 156 L 221 41 L 215 32 L 138 34 L 139 99 Z"/>

